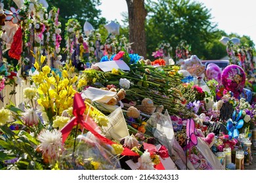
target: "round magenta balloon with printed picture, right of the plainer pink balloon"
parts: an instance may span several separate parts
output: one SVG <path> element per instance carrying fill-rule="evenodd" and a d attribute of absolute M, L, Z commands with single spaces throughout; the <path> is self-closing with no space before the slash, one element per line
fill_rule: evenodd
<path fill-rule="evenodd" d="M 223 69 L 221 74 L 221 82 L 225 90 L 234 93 L 234 97 L 238 97 L 243 92 L 245 86 L 244 70 L 238 65 L 228 65 Z"/>

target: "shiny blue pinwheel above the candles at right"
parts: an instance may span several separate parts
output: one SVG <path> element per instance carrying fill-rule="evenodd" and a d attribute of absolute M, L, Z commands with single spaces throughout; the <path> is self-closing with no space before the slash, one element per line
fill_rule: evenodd
<path fill-rule="evenodd" d="M 232 114 L 232 119 L 229 119 L 226 122 L 226 129 L 228 130 L 229 139 L 238 139 L 239 131 L 238 129 L 242 128 L 244 125 L 244 120 L 240 119 L 242 116 L 242 110 L 236 115 L 236 110 Z"/>

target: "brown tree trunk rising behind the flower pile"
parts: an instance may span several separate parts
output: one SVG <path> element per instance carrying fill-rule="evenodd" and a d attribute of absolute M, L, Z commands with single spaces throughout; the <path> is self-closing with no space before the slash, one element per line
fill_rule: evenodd
<path fill-rule="evenodd" d="M 146 58 L 145 20 L 146 8 L 144 0 L 126 0 L 129 15 L 129 42 L 131 49 Z"/>

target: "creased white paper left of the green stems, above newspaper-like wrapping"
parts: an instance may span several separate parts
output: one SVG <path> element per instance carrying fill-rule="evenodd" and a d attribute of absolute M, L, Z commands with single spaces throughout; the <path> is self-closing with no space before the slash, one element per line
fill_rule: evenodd
<path fill-rule="evenodd" d="M 87 90 L 83 91 L 81 94 L 83 98 L 102 103 L 108 103 L 108 101 L 110 101 L 114 95 L 116 95 L 116 92 L 110 92 L 108 90 L 101 90 L 93 87 L 87 88 Z"/>

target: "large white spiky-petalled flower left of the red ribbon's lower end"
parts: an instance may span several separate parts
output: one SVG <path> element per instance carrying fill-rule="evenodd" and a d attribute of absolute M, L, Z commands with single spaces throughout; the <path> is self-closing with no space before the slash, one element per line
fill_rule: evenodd
<path fill-rule="evenodd" d="M 59 157 L 60 148 L 62 148 L 62 133 L 60 131 L 43 129 L 37 139 L 41 142 L 39 150 L 43 152 L 45 160 L 51 163 Z"/>

